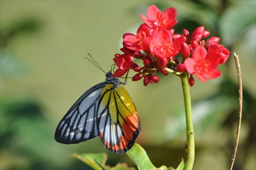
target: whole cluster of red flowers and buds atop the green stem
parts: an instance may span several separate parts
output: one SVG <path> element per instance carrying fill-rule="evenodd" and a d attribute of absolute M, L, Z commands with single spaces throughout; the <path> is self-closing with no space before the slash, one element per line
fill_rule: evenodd
<path fill-rule="evenodd" d="M 191 77 L 189 84 L 193 86 L 195 80 L 192 75 L 203 82 L 206 79 L 215 79 L 221 76 L 216 68 L 229 58 L 229 50 L 218 44 L 219 38 L 212 37 L 206 41 L 210 32 L 204 30 L 203 26 L 197 27 L 190 35 L 187 30 L 183 34 L 174 34 L 172 27 L 178 22 L 176 20 L 176 9 L 168 8 L 161 12 L 155 5 L 147 9 L 147 17 L 140 15 L 144 23 L 140 25 L 136 35 L 125 33 L 123 35 L 124 54 L 116 54 L 113 59 L 118 69 L 112 75 L 123 76 L 129 69 L 136 73 L 132 80 L 138 81 L 144 78 L 144 85 L 157 83 L 159 78 L 154 72 L 167 75 L 167 70 L 173 72 L 188 72 Z M 175 58 L 181 54 L 182 62 Z M 133 62 L 133 58 L 143 60 L 143 67 Z"/>

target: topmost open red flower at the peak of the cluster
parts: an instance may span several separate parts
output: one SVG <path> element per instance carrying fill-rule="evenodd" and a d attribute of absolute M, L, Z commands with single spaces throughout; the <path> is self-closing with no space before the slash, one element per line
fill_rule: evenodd
<path fill-rule="evenodd" d="M 140 15 L 140 17 L 151 29 L 157 27 L 170 29 L 178 22 L 175 20 L 176 15 L 177 11 L 173 7 L 161 12 L 155 5 L 151 5 L 147 8 L 147 17 L 144 15 Z"/>

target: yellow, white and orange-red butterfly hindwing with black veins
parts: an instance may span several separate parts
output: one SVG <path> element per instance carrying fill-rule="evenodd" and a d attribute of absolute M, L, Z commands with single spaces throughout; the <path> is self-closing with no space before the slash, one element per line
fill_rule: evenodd
<path fill-rule="evenodd" d="M 133 146 L 140 132 L 136 108 L 123 86 L 113 89 L 113 84 L 108 84 L 100 100 L 98 129 L 101 141 L 110 152 L 123 154 Z"/>

